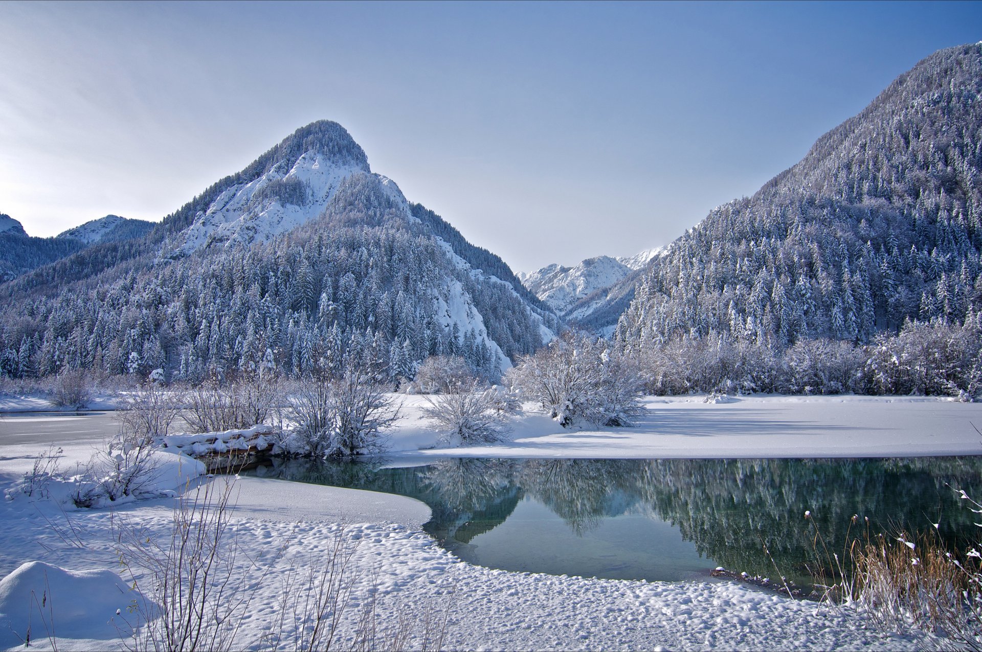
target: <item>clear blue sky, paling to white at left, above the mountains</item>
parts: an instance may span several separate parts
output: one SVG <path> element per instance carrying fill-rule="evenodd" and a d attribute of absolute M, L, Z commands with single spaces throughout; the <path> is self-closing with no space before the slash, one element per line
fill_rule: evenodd
<path fill-rule="evenodd" d="M 0 213 L 160 220 L 334 120 L 516 271 L 667 244 L 980 2 L 0 3 Z"/>

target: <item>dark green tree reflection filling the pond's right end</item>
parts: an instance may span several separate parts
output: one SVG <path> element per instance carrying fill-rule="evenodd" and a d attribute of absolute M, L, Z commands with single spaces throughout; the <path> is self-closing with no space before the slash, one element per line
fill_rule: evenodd
<path fill-rule="evenodd" d="M 853 514 L 872 531 L 926 529 L 941 510 L 942 534 L 954 545 L 975 534 L 972 514 L 945 486 L 980 487 L 976 458 L 906 460 L 662 460 L 645 462 L 642 499 L 682 537 L 718 563 L 770 575 L 762 542 L 787 575 L 813 558 L 809 510 L 830 551 L 842 555 Z M 853 529 L 853 535 L 862 534 Z"/>

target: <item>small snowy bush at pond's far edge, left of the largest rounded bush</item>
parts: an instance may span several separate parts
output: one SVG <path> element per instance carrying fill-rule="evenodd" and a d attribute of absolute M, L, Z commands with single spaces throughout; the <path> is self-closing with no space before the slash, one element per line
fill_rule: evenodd
<path fill-rule="evenodd" d="M 496 389 L 481 390 L 474 381 L 456 393 L 426 397 L 423 415 L 433 420 L 444 443 L 470 444 L 499 441 L 504 434 L 506 415 L 499 409 Z"/>

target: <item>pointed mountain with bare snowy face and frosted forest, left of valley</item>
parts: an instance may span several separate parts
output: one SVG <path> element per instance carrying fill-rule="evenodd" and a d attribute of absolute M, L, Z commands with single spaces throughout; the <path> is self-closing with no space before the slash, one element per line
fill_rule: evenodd
<path fill-rule="evenodd" d="M 355 362 L 396 378 L 450 354 L 493 378 L 559 327 L 504 261 L 373 174 L 328 121 L 143 237 L 103 235 L 0 285 L 0 297 L 11 376 L 163 368 L 194 381 L 267 367 L 335 375 Z"/>

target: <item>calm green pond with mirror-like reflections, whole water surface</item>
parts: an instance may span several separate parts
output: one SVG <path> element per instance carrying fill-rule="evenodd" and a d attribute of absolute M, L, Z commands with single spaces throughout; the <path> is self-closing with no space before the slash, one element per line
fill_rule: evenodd
<path fill-rule="evenodd" d="M 508 571 L 681 580 L 717 566 L 777 577 L 777 567 L 803 583 L 816 548 L 842 555 L 865 535 L 865 518 L 874 536 L 938 523 L 952 547 L 980 538 L 951 487 L 982 498 L 982 457 L 396 465 L 294 460 L 255 474 L 417 498 L 433 511 L 424 528 L 440 545 Z"/>

